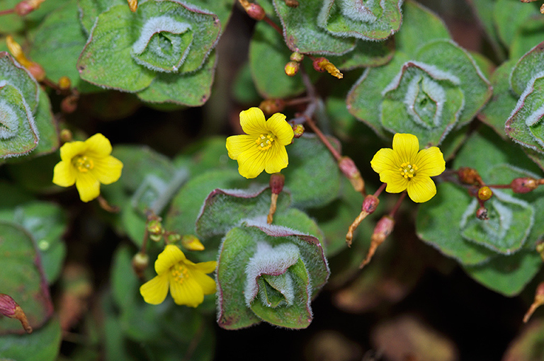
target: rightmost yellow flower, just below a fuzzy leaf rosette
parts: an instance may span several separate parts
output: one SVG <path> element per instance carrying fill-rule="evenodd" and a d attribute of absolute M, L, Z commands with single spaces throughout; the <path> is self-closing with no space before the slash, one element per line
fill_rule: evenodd
<path fill-rule="evenodd" d="M 412 134 L 395 134 L 393 149 L 383 148 L 374 155 L 370 166 L 387 183 L 385 190 L 400 193 L 408 190 L 414 202 L 426 202 L 436 195 L 436 185 L 431 180 L 446 169 L 444 156 L 438 147 L 419 151 L 419 141 Z"/>

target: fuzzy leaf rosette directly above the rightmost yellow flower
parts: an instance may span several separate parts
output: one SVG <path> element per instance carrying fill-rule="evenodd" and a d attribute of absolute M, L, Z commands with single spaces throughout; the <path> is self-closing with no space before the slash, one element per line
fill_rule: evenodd
<path fill-rule="evenodd" d="M 350 113 L 378 134 L 414 134 L 438 145 L 466 125 L 491 96 L 474 59 L 450 40 L 433 40 L 414 55 L 400 51 L 385 67 L 367 69 L 348 94 Z"/>

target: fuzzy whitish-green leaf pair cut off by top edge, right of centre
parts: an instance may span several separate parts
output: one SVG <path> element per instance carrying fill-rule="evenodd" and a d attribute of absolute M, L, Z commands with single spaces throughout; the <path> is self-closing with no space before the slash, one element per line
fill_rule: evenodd
<path fill-rule="evenodd" d="M 384 40 L 400 28 L 401 5 L 402 0 L 325 0 L 317 24 L 339 38 Z"/>

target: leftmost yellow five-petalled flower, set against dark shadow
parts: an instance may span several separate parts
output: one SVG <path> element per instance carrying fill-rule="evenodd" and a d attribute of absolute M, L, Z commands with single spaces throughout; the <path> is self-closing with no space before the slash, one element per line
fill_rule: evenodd
<path fill-rule="evenodd" d="M 111 184 L 121 176 L 123 163 L 111 154 L 111 143 L 102 134 L 85 142 L 68 142 L 60 147 L 60 161 L 53 170 L 53 183 L 69 187 L 76 183 L 84 202 L 100 195 L 100 183 Z"/>

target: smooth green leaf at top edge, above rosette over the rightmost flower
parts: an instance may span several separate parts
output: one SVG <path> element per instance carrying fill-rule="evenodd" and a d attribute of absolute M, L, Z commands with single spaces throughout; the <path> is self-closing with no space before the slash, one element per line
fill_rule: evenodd
<path fill-rule="evenodd" d="M 446 24 L 435 13 L 416 1 L 404 2 L 402 26 L 395 34 L 397 50 L 414 57 L 426 42 L 450 38 Z"/>

